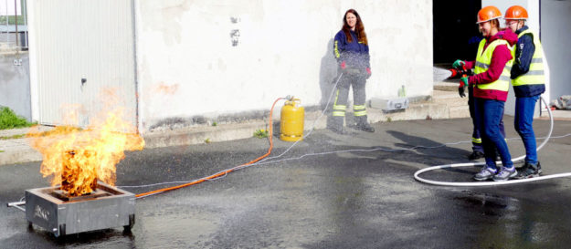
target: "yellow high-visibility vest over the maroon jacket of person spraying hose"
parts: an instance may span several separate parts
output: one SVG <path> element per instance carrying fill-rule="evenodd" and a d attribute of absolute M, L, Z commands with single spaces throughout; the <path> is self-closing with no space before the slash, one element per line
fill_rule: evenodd
<path fill-rule="evenodd" d="M 512 47 L 506 40 L 497 39 L 492 41 L 488 47 L 484 50 L 484 45 L 486 44 L 486 39 L 482 39 L 480 42 L 480 46 L 478 46 L 478 55 L 476 56 L 476 65 L 474 67 L 475 74 L 481 74 L 485 71 L 488 71 L 490 67 L 490 63 L 492 62 L 492 54 L 493 50 L 500 45 L 505 45 L 508 49 L 512 50 Z M 508 91 L 510 88 L 510 71 L 512 69 L 513 64 L 513 57 L 509 60 L 505 67 L 503 67 L 502 75 L 496 81 L 487 83 L 487 84 L 478 84 L 476 87 L 483 90 L 501 90 L 501 91 Z"/>

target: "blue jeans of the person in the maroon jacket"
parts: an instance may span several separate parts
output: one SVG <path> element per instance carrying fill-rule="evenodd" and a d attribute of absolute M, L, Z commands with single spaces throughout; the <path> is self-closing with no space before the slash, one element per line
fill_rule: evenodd
<path fill-rule="evenodd" d="M 474 99 L 474 109 L 476 119 L 478 119 L 478 129 L 481 132 L 481 143 L 484 148 L 486 165 L 491 169 L 496 169 L 496 149 L 500 153 L 502 164 L 506 168 L 512 168 L 512 156 L 508 150 L 500 132 L 500 120 L 503 118 L 503 106 L 505 102 L 492 99 Z"/>

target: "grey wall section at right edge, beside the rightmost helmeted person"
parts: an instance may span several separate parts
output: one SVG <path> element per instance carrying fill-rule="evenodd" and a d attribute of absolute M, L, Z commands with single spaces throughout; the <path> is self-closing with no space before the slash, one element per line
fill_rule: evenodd
<path fill-rule="evenodd" d="M 541 1 L 541 39 L 549 62 L 549 99 L 571 95 L 571 1 Z"/>

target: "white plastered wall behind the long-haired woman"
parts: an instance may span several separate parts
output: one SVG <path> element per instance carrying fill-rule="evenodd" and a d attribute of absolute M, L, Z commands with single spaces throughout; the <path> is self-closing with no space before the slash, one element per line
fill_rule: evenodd
<path fill-rule="evenodd" d="M 431 95 L 428 0 L 135 0 L 140 129 L 267 110 L 288 94 L 323 104 L 336 75 L 333 36 L 349 8 L 369 39 L 367 99 L 397 97 L 403 85 L 408 97 Z"/>

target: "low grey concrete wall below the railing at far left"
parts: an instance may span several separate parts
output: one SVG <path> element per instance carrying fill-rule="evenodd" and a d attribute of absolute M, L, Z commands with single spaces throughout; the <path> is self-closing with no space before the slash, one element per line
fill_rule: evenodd
<path fill-rule="evenodd" d="M 27 52 L 0 54 L 0 106 L 13 109 L 17 115 L 31 120 Z"/>

